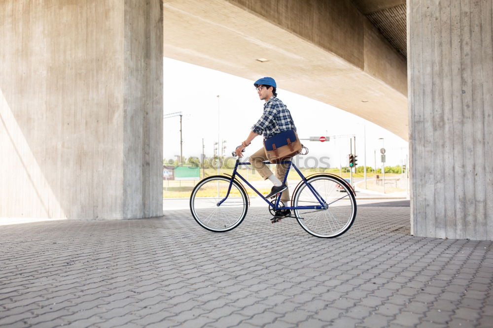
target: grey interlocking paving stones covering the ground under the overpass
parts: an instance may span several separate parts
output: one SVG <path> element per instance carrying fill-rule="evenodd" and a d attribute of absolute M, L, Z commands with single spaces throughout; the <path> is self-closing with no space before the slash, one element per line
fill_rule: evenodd
<path fill-rule="evenodd" d="M 237 229 L 188 210 L 0 230 L 2 327 L 492 327 L 492 242 L 409 235 L 409 207 L 360 206 L 316 238 L 265 208 Z"/>

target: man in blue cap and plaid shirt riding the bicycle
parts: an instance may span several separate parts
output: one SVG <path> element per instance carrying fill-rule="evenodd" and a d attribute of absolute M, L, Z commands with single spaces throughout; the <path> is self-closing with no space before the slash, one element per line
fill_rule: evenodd
<path fill-rule="evenodd" d="M 276 81 L 272 77 L 263 77 L 255 81 L 253 85 L 257 90 L 260 100 L 265 100 L 264 112 L 257 123 L 251 127 L 251 131 L 246 140 L 236 149 L 236 154 L 239 157 L 243 157 L 243 150 L 259 134 L 261 134 L 264 139 L 267 139 L 282 131 L 296 130 L 291 113 L 286 105 L 277 98 Z M 281 201 L 284 204 L 287 204 L 290 199 L 289 190 L 287 185 L 281 182 L 284 180 L 287 164 L 278 163 L 276 165 L 276 174 L 274 175 L 267 165 L 263 163 L 264 161 L 267 161 L 267 155 L 264 148 L 259 149 L 249 157 L 249 162 L 257 169 L 262 178 L 264 178 L 264 180 L 269 179 L 274 184 L 271 193 L 267 195 L 266 198 L 274 197 L 277 194 L 282 193 Z M 291 211 L 289 209 L 277 210 L 273 219 L 280 219 L 290 214 Z"/>

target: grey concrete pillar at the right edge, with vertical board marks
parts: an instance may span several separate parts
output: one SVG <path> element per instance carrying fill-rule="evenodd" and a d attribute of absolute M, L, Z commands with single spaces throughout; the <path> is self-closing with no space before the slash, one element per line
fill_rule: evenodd
<path fill-rule="evenodd" d="M 408 0 L 412 233 L 493 240 L 493 0 Z"/>

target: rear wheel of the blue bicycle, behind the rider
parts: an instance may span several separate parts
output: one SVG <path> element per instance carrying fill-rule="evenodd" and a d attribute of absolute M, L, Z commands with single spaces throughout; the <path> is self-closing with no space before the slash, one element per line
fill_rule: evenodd
<path fill-rule="evenodd" d="M 320 238 L 334 238 L 348 231 L 356 218 L 356 200 L 348 184 L 331 175 L 317 175 L 307 183 L 314 191 L 301 184 L 293 196 L 293 206 L 320 205 L 321 199 L 324 209 L 294 210 L 301 228 Z"/>

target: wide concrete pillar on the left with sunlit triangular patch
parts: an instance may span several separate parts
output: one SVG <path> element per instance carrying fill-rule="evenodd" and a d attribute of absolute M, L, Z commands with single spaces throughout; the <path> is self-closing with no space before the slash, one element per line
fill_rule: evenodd
<path fill-rule="evenodd" d="M 0 217 L 162 214 L 162 0 L 0 2 Z"/>

